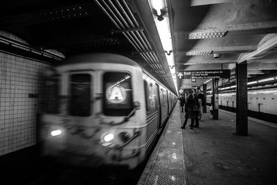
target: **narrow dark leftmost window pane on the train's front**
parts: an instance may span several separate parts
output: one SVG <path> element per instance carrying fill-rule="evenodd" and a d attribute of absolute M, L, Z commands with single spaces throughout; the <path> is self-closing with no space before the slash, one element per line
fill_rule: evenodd
<path fill-rule="evenodd" d="M 50 114 L 59 113 L 59 82 L 60 76 L 49 76 L 46 79 L 46 112 Z"/>

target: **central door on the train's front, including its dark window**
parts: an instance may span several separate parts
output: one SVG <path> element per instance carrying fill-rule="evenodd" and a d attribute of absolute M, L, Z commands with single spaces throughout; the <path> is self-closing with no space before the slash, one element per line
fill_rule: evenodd
<path fill-rule="evenodd" d="M 66 124 L 70 125 L 66 139 L 68 152 L 87 155 L 90 139 L 84 132 L 93 120 L 93 72 L 76 71 L 69 74 L 69 107 Z M 91 129 L 91 128 L 90 128 Z M 86 130 L 88 132 L 88 130 Z"/>

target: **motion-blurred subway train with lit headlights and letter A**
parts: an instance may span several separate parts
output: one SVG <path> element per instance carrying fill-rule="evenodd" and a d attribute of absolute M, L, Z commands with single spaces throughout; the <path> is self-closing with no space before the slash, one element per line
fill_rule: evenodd
<path fill-rule="evenodd" d="M 136 62 L 93 53 L 46 71 L 42 155 L 76 166 L 127 166 L 150 154 L 177 96 Z"/>

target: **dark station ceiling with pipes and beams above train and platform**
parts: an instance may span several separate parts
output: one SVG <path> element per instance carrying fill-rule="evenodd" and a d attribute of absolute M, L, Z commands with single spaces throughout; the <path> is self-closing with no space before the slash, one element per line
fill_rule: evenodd
<path fill-rule="evenodd" d="M 233 70 L 244 60 L 248 61 L 249 78 L 276 73 L 277 1 L 166 3 L 177 74 L 199 69 Z M 55 49 L 65 56 L 84 52 L 125 55 L 175 91 L 147 0 L 3 0 L 0 31 L 12 33 L 37 49 Z M 0 49 L 9 50 L 3 42 Z M 221 57 L 214 58 L 214 54 Z M 177 85 L 179 89 L 196 87 L 204 81 L 177 78 Z"/>

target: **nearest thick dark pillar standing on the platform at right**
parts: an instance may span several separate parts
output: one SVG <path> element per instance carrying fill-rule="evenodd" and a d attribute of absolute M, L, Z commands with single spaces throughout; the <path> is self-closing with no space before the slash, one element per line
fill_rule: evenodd
<path fill-rule="evenodd" d="M 236 134 L 247 136 L 248 134 L 248 104 L 247 104 L 247 61 L 236 64 L 236 100 L 237 100 L 237 114 L 236 114 Z"/>

